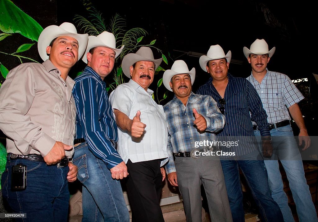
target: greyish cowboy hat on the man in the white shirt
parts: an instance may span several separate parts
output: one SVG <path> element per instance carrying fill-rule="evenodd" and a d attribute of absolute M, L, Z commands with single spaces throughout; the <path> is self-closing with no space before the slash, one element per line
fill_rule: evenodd
<path fill-rule="evenodd" d="M 160 59 L 154 59 L 154 54 L 152 53 L 151 49 L 146 46 L 140 47 L 140 49 L 136 53 L 129 53 L 124 56 L 122 59 L 121 67 L 124 74 L 128 77 L 130 77 L 130 66 L 134 65 L 136 62 L 139 61 L 150 61 L 154 62 L 157 69 L 160 66 L 160 63 L 162 62 L 162 58 Z"/>

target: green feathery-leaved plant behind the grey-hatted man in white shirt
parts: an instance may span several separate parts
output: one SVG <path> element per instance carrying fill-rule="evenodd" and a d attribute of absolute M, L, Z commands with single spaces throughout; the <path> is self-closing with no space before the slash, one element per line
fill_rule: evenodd
<path fill-rule="evenodd" d="M 112 71 L 112 82 L 108 83 L 107 91 L 114 90 L 118 85 L 125 82 L 125 78 L 122 73 L 121 60 L 125 55 L 130 52 L 135 52 L 140 46 L 151 47 L 162 55 L 163 61 L 168 64 L 166 56 L 163 54 L 162 50 L 157 48 L 155 45 L 156 39 L 152 40 L 149 44 L 142 44 L 143 38 L 148 35 L 148 32 L 143 28 L 132 28 L 126 30 L 126 20 L 122 18 L 119 14 L 115 14 L 109 20 L 109 24 L 106 24 L 102 13 L 96 10 L 94 7 L 87 9 L 88 18 L 85 18 L 81 15 L 75 15 L 74 21 L 78 26 L 89 35 L 97 36 L 103 31 L 112 32 L 116 39 L 116 45 L 125 45 L 121 56 L 116 58 L 115 66 Z M 161 66 L 157 67 L 155 74 L 158 74 L 160 71 L 165 71 Z M 158 98 L 158 88 L 162 85 L 162 78 L 157 82 L 156 90 L 156 99 L 157 102 L 167 98 L 167 92 L 163 95 L 163 99 L 159 100 Z M 155 100 L 155 95 L 153 94 L 153 99 Z"/>

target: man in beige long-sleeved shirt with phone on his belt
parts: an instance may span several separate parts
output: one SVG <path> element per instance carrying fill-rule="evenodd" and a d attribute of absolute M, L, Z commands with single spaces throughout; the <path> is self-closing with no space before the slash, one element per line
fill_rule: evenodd
<path fill-rule="evenodd" d="M 67 181 L 75 181 L 77 174 L 69 162 L 76 110 L 68 73 L 84 53 L 87 37 L 71 23 L 46 27 L 38 38 L 45 62 L 17 66 L 1 87 L 0 128 L 7 135 L 8 152 L 2 193 L 13 212 L 27 214 L 23 221 L 67 220 Z M 17 164 L 20 172 L 27 168 L 25 190 L 14 185 L 23 179 L 12 173 Z"/>

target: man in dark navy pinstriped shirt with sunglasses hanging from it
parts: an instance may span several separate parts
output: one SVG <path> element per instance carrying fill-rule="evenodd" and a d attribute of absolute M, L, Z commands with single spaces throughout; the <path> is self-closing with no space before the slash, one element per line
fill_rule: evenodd
<path fill-rule="evenodd" d="M 210 73 L 210 80 L 201 86 L 198 94 L 211 95 L 225 114 L 226 124 L 217 134 L 219 140 L 237 141 L 237 146 L 222 147 L 223 153 L 235 151 L 235 156 L 221 156 L 226 189 L 233 221 L 244 221 L 243 194 L 239 178 L 242 170 L 259 207 L 264 221 L 282 221 L 277 203 L 271 197 L 267 183 L 264 161 L 260 158 L 258 145 L 252 127 L 252 119 L 257 122 L 263 136 L 263 155 L 272 151 L 269 142 L 267 115 L 262 102 L 251 83 L 243 78 L 235 78 L 228 73 L 231 51 L 226 55 L 219 45 L 212 45 L 205 56 L 199 59 L 201 68 Z"/>

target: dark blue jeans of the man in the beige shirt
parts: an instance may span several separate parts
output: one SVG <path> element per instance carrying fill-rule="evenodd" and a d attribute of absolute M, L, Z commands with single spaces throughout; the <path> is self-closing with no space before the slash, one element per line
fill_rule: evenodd
<path fill-rule="evenodd" d="M 11 191 L 11 168 L 22 163 L 27 166 L 27 184 L 24 191 Z M 57 168 L 44 162 L 7 158 L 2 174 L 3 198 L 15 213 L 26 213 L 24 222 L 67 221 L 70 193 L 66 179 L 69 167 Z"/>

